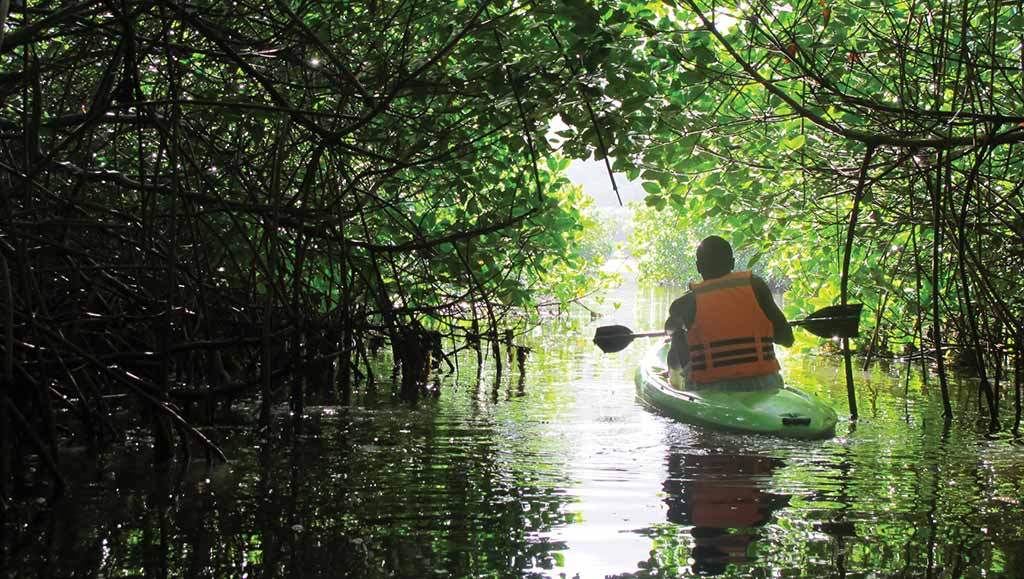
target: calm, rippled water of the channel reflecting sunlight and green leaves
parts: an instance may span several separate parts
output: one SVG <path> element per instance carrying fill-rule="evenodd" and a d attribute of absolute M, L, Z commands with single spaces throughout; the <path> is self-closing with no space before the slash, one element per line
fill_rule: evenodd
<path fill-rule="evenodd" d="M 691 427 L 637 404 L 646 344 L 590 343 L 600 324 L 658 327 L 670 297 L 624 290 L 605 319 L 539 330 L 497 388 L 470 366 L 415 407 L 282 417 L 272 445 L 208 430 L 227 465 L 69 454 L 70 496 L 8 521 L 3 574 L 1024 577 L 1024 453 L 980 433 L 974 383 L 948 429 L 938 387 L 898 364 L 857 373 L 861 420 L 833 440 Z M 848 415 L 835 361 L 782 364 Z"/>

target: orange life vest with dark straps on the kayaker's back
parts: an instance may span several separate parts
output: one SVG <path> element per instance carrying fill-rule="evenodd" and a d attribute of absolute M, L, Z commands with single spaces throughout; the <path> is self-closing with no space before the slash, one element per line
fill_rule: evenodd
<path fill-rule="evenodd" d="M 774 326 L 761 309 L 750 272 L 690 284 L 696 316 L 686 333 L 690 377 L 698 384 L 779 370 Z"/>

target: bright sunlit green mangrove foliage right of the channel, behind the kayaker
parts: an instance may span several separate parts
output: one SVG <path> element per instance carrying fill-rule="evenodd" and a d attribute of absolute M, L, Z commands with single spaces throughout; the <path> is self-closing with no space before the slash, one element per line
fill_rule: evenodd
<path fill-rule="evenodd" d="M 648 206 L 675 208 L 679 231 L 726 225 L 793 278 L 793 313 L 863 301 L 865 351 L 1019 344 L 1020 6 L 686 0 L 633 16 L 646 41 L 623 49 L 642 55 L 609 59 L 604 93 L 657 95 L 609 108 L 629 135 L 616 169 Z"/>

